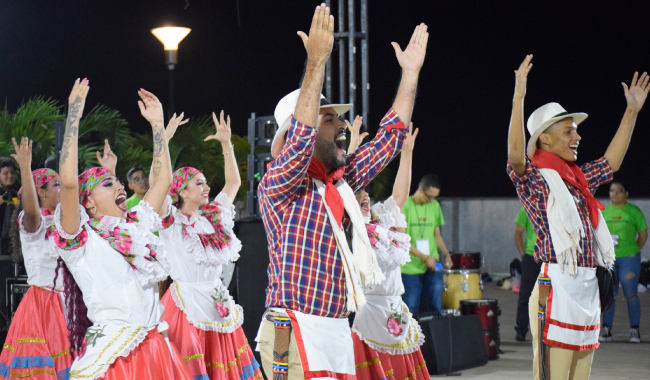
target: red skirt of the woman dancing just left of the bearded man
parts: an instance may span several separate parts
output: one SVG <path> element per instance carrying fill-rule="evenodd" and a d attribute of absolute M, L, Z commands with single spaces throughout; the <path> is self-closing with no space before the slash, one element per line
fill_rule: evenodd
<path fill-rule="evenodd" d="M 165 306 L 162 319 L 169 324 L 169 339 L 195 379 L 253 380 L 262 377 L 260 365 L 241 327 L 229 334 L 201 330 L 187 320 L 169 291 L 161 302 Z"/>

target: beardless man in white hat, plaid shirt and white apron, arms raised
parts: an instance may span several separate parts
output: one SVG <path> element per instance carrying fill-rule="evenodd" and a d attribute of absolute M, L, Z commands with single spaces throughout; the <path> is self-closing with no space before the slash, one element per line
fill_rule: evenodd
<path fill-rule="evenodd" d="M 508 136 L 510 179 L 530 219 L 542 264 L 529 300 L 535 379 L 588 379 L 598 348 L 601 304 L 596 265 L 611 268 L 614 243 L 594 198 L 623 161 L 637 115 L 650 91 L 646 73 L 623 83 L 627 109 L 605 156 L 578 167 L 578 124 L 585 113 L 568 113 L 548 103 L 528 118 L 526 144 L 524 95 L 528 55 L 515 71 L 516 85 Z"/>

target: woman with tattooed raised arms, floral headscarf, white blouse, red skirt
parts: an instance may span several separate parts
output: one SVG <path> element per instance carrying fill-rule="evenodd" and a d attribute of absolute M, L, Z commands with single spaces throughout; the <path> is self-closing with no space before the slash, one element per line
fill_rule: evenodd
<path fill-rule="evenodd" d="M 158 99 L 140 90 L 140 112 L 154 136 L 156 183 L 127 214 L 124 186 L 106 168 L 77 177 L 79 119 L 88 81 L 77 80 L 70 94 L 61 150 L 61 203 L 52 231 L 62 264 L 70 331 L 77 356 L 71 378 L 107 380 L 192 380 L 183 358 L 166 337 L 158 281 L 169 264 L 160 239 L 171 184 L 163 110 Z"/>

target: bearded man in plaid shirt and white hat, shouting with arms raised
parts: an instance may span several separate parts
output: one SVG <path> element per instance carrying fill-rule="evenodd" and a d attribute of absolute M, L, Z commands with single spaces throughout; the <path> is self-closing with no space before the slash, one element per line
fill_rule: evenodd
<path fill-rule="evenodd" d="M 363 306 L 362 288 L 383 275 L 354 193 L 402 148 L 428 40 L 421 24 L 404 51 L 392 43 L 402 68 L 393 107 L 376 137 L 346 156 L 339 115 L 352 105 L 330 104 L 320 94 L 334 42 L 329 13 L 323 3 L 309 36 L 298 32 L 308 55 L 305 76 L 300 90 L 278 103 L 276 160 L 258 188 L 270 264 L 268 310 L 256 341 L 269 379 L 355 377 L 347 316 Z"/>

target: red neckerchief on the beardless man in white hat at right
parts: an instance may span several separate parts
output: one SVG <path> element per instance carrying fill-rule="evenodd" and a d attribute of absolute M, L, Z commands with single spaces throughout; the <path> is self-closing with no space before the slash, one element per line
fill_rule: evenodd
<path fill-rule="evenodd" d="M 535 151 L 531 164 L 538 169 L 555 170 L 565 183 L 580 190 L 580 193 L 585 197 L 589 206 L 587 208 L 589 220 L 594 226 L 594 229 L 598 228 L 598 210 L 604 210 L 605 206 L 594 198 L 594 195 L 589 191 L 587 178 L 578 165 L 573 162 L 564 161 L 557 155 L 542 149 Z"/>

